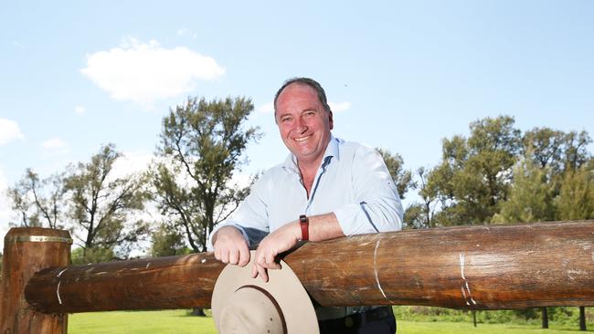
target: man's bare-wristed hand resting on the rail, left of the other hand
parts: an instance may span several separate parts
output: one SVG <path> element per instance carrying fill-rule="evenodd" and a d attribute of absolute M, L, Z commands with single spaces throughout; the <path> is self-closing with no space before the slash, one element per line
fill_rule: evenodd
<path fill-rule="evenodd" d="M 217 260 L 238 266 L 246 266 L 249 263 L 248 241 L 237 228 L 221 227 L 213 239 Z"/>

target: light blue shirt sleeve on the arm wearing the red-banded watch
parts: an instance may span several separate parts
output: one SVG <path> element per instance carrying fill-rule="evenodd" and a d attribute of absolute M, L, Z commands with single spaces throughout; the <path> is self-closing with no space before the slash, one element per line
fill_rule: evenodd
<path fill-rule="evenodd" d="M 361 235 L 401 229 L 402 204 L 381 155 L 361 147 L 353 157 L 352 175 L 355 202 L 334 210 L 343 233 Z"/>

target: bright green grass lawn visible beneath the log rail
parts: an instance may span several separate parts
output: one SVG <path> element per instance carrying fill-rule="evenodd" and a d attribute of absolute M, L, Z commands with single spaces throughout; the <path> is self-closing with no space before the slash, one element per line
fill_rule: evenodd
<path fill-rule="evenodd" d="M 98 334 L 98 333 L 202 333 L 215 334 L 212 318 L 189 317 L 183 309 L 164 311 L 114 311 L 97 313 L 78 313 L 69 316 L 69 334 Z M 559 329 L 551 324 L 551 329 L 539 329 L 536 326 L 522 325 L 490 325 L 479 324 L 477 328 L 466 322 L 414 322 L 398 321 L 398 333 L 416 334 L 499 334 L 499 333 L 530 333 L 530 334 L 559 334 L 580 333 L 577 328 Z"/>

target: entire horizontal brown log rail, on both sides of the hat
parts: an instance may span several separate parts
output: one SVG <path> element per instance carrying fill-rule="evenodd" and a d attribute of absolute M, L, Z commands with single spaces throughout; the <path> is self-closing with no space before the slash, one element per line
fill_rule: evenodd
<path fill-rule="evenodd" d="M 307 243 L 284 261 L 323 306 L 594 305 L 594 221 L 358 235 Z M 211 253 L 49 268 L 26 297 L 47 313 L 207 308 L 222 268 Z"/>

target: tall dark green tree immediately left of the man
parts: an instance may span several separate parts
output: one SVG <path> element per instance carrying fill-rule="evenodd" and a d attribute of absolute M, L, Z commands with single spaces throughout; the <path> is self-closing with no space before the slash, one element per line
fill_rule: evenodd
<path fill-rule="evenodd" d="M 253 109 L 251 99 L 188 98 L 163 120 L 154 198 L 167 216 L 164 224 L 186 235 L 195 252 L 206 251 L 214 226 L 249 192 L 232 178 L 246 162 L 248 143 L 260 138 L 258 128 L 244 129 Z"/>

